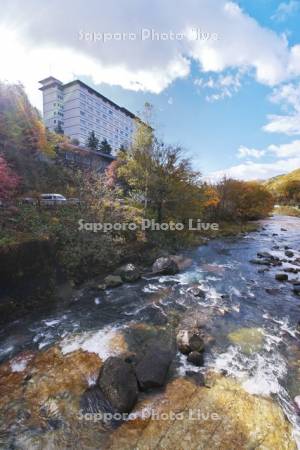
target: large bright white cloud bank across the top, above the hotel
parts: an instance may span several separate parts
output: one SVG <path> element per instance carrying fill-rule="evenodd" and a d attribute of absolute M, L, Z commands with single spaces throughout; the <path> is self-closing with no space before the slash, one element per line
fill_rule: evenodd
<path fill-rule="evenodd" d="M 256 80 L 276 85 L 300 74 L 300 46 L 289 48 L 284 36 L 264 28 L 236 3 L 227 0 L 2 0 L 0 27 L 1 77 L 19 78 L 36 99 L 35 80 L 50 74 L 67 81 L 88 76 L 127 89 L 160 93 L 177 78 L 186 77 L 194 60 L 200 72 L 248 70 Z M 14 39 L 10 40 L 10 32 Z M 137 33 L 183 32 L 194 28 L 218 33 L 207 40 L 79 39 L 80 31 Z M 7 46 L 10 51 L 7 51 Z M 37 58 L 38 57 L 38 58 Z M 20 64 L 19 61 L 25 62 Z M 21 70 L 20 70 L 21 68 Z M 228 76 L 227 76 L 228 77 Z M 230 96 L 238 80 L 220 77 L 219 96 Z M 222 84 L 223 83 L 223 84 Z"/>

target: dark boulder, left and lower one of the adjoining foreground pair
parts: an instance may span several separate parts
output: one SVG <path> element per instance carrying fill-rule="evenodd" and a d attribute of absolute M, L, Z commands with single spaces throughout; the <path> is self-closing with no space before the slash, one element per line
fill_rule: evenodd
<path fill-rule="evenodd" d="M 119 412 L 132 410 L 138 386 L 130 364 L 121 358 L 109 357 L 101 368 L 97 384 L 113 408 Z"/>

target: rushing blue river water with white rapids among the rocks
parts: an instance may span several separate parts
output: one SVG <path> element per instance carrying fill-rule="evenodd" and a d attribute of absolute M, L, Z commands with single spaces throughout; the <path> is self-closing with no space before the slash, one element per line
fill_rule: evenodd
<path fill-rule="evenodd" d="M 149 305 L 166 316 L 174 309 L 191 317 L 197 314 L 215 340 L 205 353 L 205 367 L 198 370 L 223 371 L 240 380 L 249 393 L 275 399 L 299 441 L 300 416 L 293 398 L 300 395 L 300 297 L 293 294 L 291 283 L 277 282 L 275 274 L 285 267 L 299 267 L 295 259 L 300 257 L 300 219 L 277 216 L 262 225 L 257 232 L 212 240 L 187 252 L 192 265 L 178 275 L 144 278 L 107 291 L 85 289 L 51 316 L 39 313 L 8 323 L 0 333 L 2 365 L 9 364 L 11 372 L 20 374 L 32 354 L 57 345 L 66 357 L 82 349 L 105 359 L 112 353 L 113 333 L 151 321 Z M 285 256 L 286 246 L 294 257 Z M 263 272 L 263 266 L 249 262 L 262 251 L 289 261 Z M 299 278 L 289 273 L 290 280 Z M 195 283 L 206 291 L 205 298 L 188 293 Z M 195 370 L 182 355 L 176 358 L 178 375 L 188 368 Z M 86 385 L 93 382 L 91 377 Z M 14 408 L 18 408 L 15 400 Z M 29 448 L 22 447 L 16 436 L 44 432 L 26 429 L 22 403 L 19 409 L 17 422 L 0 419 L 1 448 Z"/>

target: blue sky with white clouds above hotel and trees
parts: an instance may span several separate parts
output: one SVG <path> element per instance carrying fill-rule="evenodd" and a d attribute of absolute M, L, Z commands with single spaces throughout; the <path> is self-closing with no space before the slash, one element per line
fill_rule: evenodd
<path fill-rule="evenodd" d="M 300 0 L 0 0 L 0 79 L 81 79 L 216 180 L 300 168 Z"/>

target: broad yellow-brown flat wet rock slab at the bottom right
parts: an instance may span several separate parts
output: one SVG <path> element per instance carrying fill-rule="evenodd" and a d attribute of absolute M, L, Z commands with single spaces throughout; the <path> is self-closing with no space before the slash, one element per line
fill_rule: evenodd
<path fill-rule="evenodd" d="M 107 447 L 110 450 L 297 448 L 292 426 L 279 405 L 270 398 L 247 393 L 232 378 L 220 377 L 210 389 L 179 378 L 167 385 L 164 398 L 154 407 L 149 399 L 148 404 L 137 405 L 136 410 L 148 406 L 158 416 L 169 419 L 125 422 L 111 434 Z M 201 411 L 207 418 L 191 420 L 187 408 L 193 416 Z M 181 420 L 174 420 L 171 414 L 181 411 L 184 411 Z"/>

